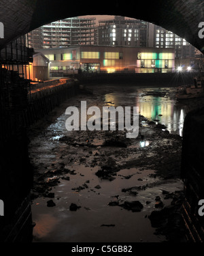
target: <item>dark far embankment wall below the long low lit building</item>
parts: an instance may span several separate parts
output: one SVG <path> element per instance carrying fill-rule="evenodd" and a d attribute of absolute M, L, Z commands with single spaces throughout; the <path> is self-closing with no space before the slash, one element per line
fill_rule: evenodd
<path fill-rule="evenodd" d="M 83 84 L 126 84 L 147 87 L 177 87 L 179 85 L 193 83 L 197 73 L 175 72 L 175 73 L 92 73 L 78 74 L 75 77 Z"/>

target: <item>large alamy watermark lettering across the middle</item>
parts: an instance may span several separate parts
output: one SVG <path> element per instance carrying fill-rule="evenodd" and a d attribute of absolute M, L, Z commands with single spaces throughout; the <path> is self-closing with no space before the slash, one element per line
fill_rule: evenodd
<path fill-rule="evenodd" d="M 118 130 L 126 130 L 126 138 L 137 138 L 139 134 L 139 107 L 133 106 L 103 106 L 102 125 L 101 109 L 98 106 L 86 107 L 86 101 L 81 102 L 81 109 L 76 106 L 67 107 L 65 114 L 70 115 L 66 122 L 66 129 L 71 130 L 116 130 L 116 113 L 118 113 Z M 88 115 L 92 115 L 87 119 Z M 110 118 L 109 118 L 110 117 Z M 132 118 L 131 118 L 132 117 Z M 110 125 L 109 125 L 110 124 Z"/>

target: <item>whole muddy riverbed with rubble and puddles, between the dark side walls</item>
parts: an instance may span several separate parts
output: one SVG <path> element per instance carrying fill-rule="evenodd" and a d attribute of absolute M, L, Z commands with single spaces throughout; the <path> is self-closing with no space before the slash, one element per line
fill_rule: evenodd
<path fill-rule="evenodd" d="M 178 128 L 169 132 L 168 108 L 154 111 L 153 106 L 153 114 L 145 116 L 150 112 L 143 105 L 136 139 L 126 139 L 125 130 L 65 128 L 65 110 L 80 110 L 82 100 L 87 108 L 100 109 L 141 106 L 151 97 L 172 105 L 175 89 L 86 89 L 88 94 L 67 100 L 29 131 L 33 242 L 186 242 L 180 216 L 180 115 Z"/>

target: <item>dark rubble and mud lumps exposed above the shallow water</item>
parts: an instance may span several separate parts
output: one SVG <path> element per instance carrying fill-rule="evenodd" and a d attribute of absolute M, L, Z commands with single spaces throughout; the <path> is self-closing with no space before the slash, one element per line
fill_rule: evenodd
<path fill-rule="evenodd" d="M 78 99 L 79 100 L 79 99 Z M 91 102 L 90 98 L 86 98 Z M 99 97 L 101 100 L 101 96 Z M 99 102 L 100 103 L 100 102 Z M 101 104 L 101 103 L 100 103 Z M 49 132 L 48 132 L 49 133 Z M 40 140 L 44 136 L 39 136 Z M 47 134 L 47 137 L 52 137 Z M 52 141 L 49 148 L 49 156 L 44 155 L 44 149 L 31 143 L 33 160 L 34 184 L 31 193 L 32 199 L 37 197 L 48 197 L 48 206 L 54 207 L 54 195 L 52 188 L 58 186 L 62 180 L 72 179 L 75 175 L 81 177 L 86 173 L 78 173 L 78 166 L 83 166 L 91 170 L 95 169 L 95 176 L 99 180 L 105 180 L 112 186 L 116 178 L 129 180 L 133 175 L 118 175 L 122 169 L 138 168 L 143 170 L 154 170 L 154 178 L 159 181 L 143 184 L 141 186 L 122 188 L 122 195 L 131 195 L 134 200 L 124 200 L 118 196 L 114 201 L 109 202 L 109 206 L 118 206 L 124 210 L 141 212 L 145 205 L 137 200 L 141 191 L 156 186 L 156 182 L 180 178 L 180 158 L 182 150 L 182 138 L 175 134 L 169 134 L 163 125 L 139 116 L 139 136 L 136 139 L 126 139 L 125 131 L 72 131 L 63 132 L 57 141 Z M 42 158 L 39 158 L 41 150 Z M 138 180 L 142 180 L 140 177 Z M 103 186 L 103 185 L 101 185 Z M 84 190 L 95 192 L 101 189 L 100 185 L 91 187 L 89 180 L 78 186 L 73 186 L 71 190 L 79 193 Z M 53 199 L 53 201 L 49 197 Z M 159 198 L 154 202 L 154 211 L 148 216 L 152 227 L 157 228 L 158 233 L 163 233 L 167 239 L 172 240 L 173 236 L 168 236 L 168 231 L 176 232 L 180 223 L 180 207 L 182 205 L 182 193 L 169 193 L 166 191 L 164 197 L 172 199 L 170 206 L 164 205 Z M 177 202 L 177 203 L 175 203 Z M 148 205 L 146 201 L 146 205 Z M 85 208 L 86 205 L 84 205 Z M 80 207 L 71 204 L 71 210 L 80 211 Z M 169 227 L 169 223 L 175 221 L 175 229 Z M 114 225 L 112 225 L 114 227 Z"/>

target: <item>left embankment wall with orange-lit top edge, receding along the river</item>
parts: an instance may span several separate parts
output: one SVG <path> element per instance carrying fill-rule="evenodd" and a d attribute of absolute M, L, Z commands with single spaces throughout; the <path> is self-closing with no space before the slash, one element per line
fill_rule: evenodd
<path fill-rule="evenodd" d="M 57 79 L 32 87 L 24 111 L 24 124 L 30 126 L 43 118 L 63 101 L 78 94 L 78 90 L 79 82 L 76 79 Z"/>

